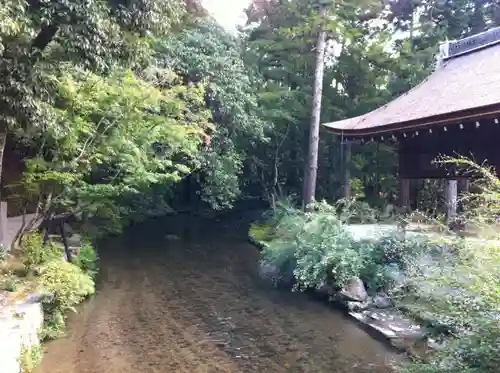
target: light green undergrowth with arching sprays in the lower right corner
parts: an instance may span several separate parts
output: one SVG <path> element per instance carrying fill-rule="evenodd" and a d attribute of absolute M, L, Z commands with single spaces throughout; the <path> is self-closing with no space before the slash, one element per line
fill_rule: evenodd
<path fill-rule="evenodd" d="M 493 169 L 467 158 L 443 158 L 475 179 L 458 217 L 476 239 L 455 238 L 453 260 L 411 278 L 413 309 L 448 331 L 441 349 L 406 373 L 496 373 L 500 366 L 500 180 Z M 417 286 L 418 285 L 418 286 Z M 412 305 L 410 304 L 410 308 Z"/>

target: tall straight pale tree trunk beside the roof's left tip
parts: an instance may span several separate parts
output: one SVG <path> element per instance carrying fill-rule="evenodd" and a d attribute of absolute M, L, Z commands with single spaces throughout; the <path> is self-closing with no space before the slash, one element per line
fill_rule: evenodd
<path fill-rule="evenodd" d="M 321 10 L 321 16 L 326 14 L 326 8 Z M 309 150 L 307 166 L 304 175 L 304 208 L 314 201 L 316 194 L 316 177 L 318 173 L 319 125 L 321 115 L 321 95 L 323 93 L 323 74 L 325 70 L 326 32 L 321 29 L 316 41 L 316 68 L 314 73 L 313 103 L 311 124 L 309 127 Z"/>

